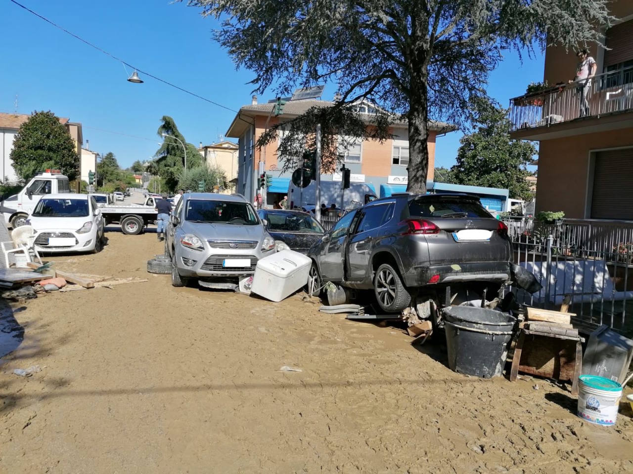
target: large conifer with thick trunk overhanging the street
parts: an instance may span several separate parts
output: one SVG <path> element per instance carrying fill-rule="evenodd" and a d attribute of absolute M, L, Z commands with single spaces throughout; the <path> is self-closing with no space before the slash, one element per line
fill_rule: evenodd
<path fill-rule="evenodd" d="M 600 41 L 609 0 L 189 0 L 263 93 L 336 83 L 334 109 L 368 99 L 408 121 L 408 190 L 425 191 L 429 116 L 460 125 L 510 49 Z M 336 113 L 336 112 L 334 112 Z M 391 117 L 393 118 L 393 117 Z M 373 130 L 373 129 L 372 129 Z M 386 130 L 386 128 L 385 128 Z M 325 137 L 325 134 L 323 135 Z M 378 133 L 377 138 L 384 137 Z M 286 137 L 288 138 L 288 137 Z M 260 143 L 261 145 L 261 143 Z"/>

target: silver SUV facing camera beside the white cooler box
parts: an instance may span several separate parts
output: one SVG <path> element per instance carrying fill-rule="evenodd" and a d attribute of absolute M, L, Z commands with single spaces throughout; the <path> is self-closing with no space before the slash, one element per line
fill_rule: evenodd
<path fill-rule="evenodd" d="M 190 278 L 202 286 L 237 284 L 272 253 L 275 240 L 241 195 L 186 193 L 167 226 L 165 254 L 172 258 L 173 286 L 185 286 Z"/>

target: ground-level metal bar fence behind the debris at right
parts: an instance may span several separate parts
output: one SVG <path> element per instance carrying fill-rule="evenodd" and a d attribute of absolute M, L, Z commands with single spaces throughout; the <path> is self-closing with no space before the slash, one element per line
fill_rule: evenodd
<path fill-rule="evenodd" d="M 607 324 L 633 335 L 633 222 L 563 219 L 543 224 L 531 218 L 504 219 L 515 263 L 542 285 L 520 302 L 556 308 L 571 298 L 574 322 L 587 331 Z"/>

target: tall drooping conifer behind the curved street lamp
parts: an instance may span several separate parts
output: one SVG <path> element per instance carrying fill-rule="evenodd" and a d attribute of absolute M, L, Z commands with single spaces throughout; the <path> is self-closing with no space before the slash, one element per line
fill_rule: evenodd
<path fill-rule="evenodd" d="M 162 137 L 162 134 L 166 133 L 171 137 L 164 138 L 160 149 L 156 151 L 156 159 L 154 159 L 147 171 L 162 176 L 165 179 L 166 190 L 173 192 L 178 185 L 178 180 L 185 164 L 185 153 L 180 142 L 184 143 L 187 149 L 187 168 L 200 166 L 203 162 L 203 157 L 194 145 L 185 141 L 185 137 L 178 130 L 173 118 L 164 115 L 161 120 L 163 123 L 158 127 L 157 135 Z"/>

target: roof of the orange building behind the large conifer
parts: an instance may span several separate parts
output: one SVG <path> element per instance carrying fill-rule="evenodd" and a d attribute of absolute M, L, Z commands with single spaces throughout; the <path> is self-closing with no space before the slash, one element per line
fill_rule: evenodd
<path fill-rule="evenodd" d="M 329 100 L 289 100 L 285 103 L 284 114 L 282 115 L 282 117 L 293 118 L 304 114 L 311 107 L 331 107 L 333 105 L 334 102 L 330 102 Z M 253 122 L 250 121 L 248 118 L 252 119 L 256 116 L 261 115 L 268 116 L 274 106 L 274 102 L 268 102 L 267 104 L 254 104 L 241 107 L 225 135 L 232 138 L 241 137 L 242 133 L 244 133 L 244 130 L 246 130 L 246 127 L 248 127 L 249 125 L 253 125 Z M 367 115 L 367 118 L 369 118 L 370 116 L 370 114 L 362 115 Z M 392 121 L 392 125 L 406 127 L 408 126 L 408 122 L 406 120 L 394 119 Z M 449 131 L 457 130 L 457 127 L 449 123 L 430 120 L 429 129 L 437 131 L 439 133 L 448 133 Z"/>

